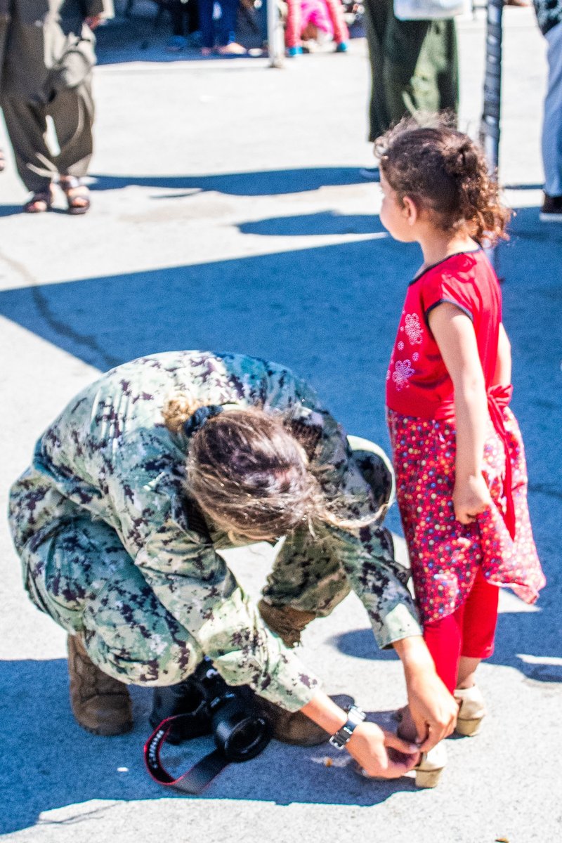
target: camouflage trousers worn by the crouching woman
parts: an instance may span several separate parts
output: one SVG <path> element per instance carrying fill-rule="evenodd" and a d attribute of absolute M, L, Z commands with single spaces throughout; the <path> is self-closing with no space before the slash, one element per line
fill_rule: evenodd
<path fill-rule="evenodd" d="M 384 510 L 394 492 L 388 458 L 365 439 L 350 437 L 350 444 Z M 71 635 L 81 633 L 104 673 L 131 685 L 175 685 L 193 673 L 201 647 L 158 601 L 109 524 L 33 469 L 13 484 L 9 520 L 29 598 Z M 281 550 L 264 598 L 324 616 L 350 584 L 337 558 L 307 535 L 302 544 L 292 541 L 290 554 Z"/>

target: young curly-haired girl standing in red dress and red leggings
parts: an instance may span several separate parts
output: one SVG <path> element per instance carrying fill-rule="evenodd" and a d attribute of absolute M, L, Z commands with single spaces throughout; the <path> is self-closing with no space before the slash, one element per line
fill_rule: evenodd
<path fill-rule="evenodd" d="M 397 497 L 426 644 L 458 700 L 457 732 L 470 735 L 485 713 L 474 671 L 494 649 L 498 587 L 533 603 L 544 584 L 500 287 L 480 246 L 505 236 L 510 212 L 484 154 L 444 124 L 403 121 L 376 152 L 381 221 L 423 253 L 387 374 Z M 415 738 L 407 709 L 399 731 Z M 417 783 L 434 787 L 444 761 L 438 744 Z"/>

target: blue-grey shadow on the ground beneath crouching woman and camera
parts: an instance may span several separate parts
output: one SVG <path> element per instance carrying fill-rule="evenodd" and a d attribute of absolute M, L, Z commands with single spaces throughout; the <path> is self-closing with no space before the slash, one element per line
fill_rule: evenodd
<path fill-rule="evenodd" d="M 149 690 L 132 689 L 136 717 L 131 733 L 99 738 L 74 721 L 67 685 L 66 659 L 0 663 L 5 724 L 0 834 L 35 825 L 41 812 L 93 799 L 177 797 L 372 805 L 395 792 L 415 789 L 409 778 L 366 781 L 351 767 L 340 769 L 342 759 L 327 744 L 305 749 L 272 741 L 254 760 L 228 766 L 203 796 L 186 797 L 160 787 L 145 769 L 142 747 L 152 731 L 147 721 Z M 369 719 L 374 718 L 369 715 Z M 170 770 L 185 772 L 211 749 L 212 739 L 200 738 L 179 747 L 166 746 L 163 760 Z M 326 765 L 328 758 L 333 762 L 330 765 Z"/>

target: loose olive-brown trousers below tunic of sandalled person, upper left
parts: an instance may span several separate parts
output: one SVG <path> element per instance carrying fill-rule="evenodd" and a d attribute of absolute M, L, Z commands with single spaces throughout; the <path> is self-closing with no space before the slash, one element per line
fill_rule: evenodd
<path fill-rule="evenodd" d="M 88 173 L 94 123 L 90 78 L 78 88 L 59 91 L 50 103 L 29 102 L 6 95 L 2 107 L 19 177 L 28 191 L 48 190 L 57 173 L 78 178 Z M 55 125 L 61 150 L 56 156 L 45 142 L 48 116 Z"/>

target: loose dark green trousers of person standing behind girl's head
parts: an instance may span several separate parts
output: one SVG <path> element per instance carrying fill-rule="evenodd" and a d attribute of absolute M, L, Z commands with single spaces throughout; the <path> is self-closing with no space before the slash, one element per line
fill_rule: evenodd
<path fill-rule="evenodd" d="M 399 20 L 393 0 L 364 0 L 371 62 L 369 140 L 404 115 L 458 110 L 453 20 Z"/>

